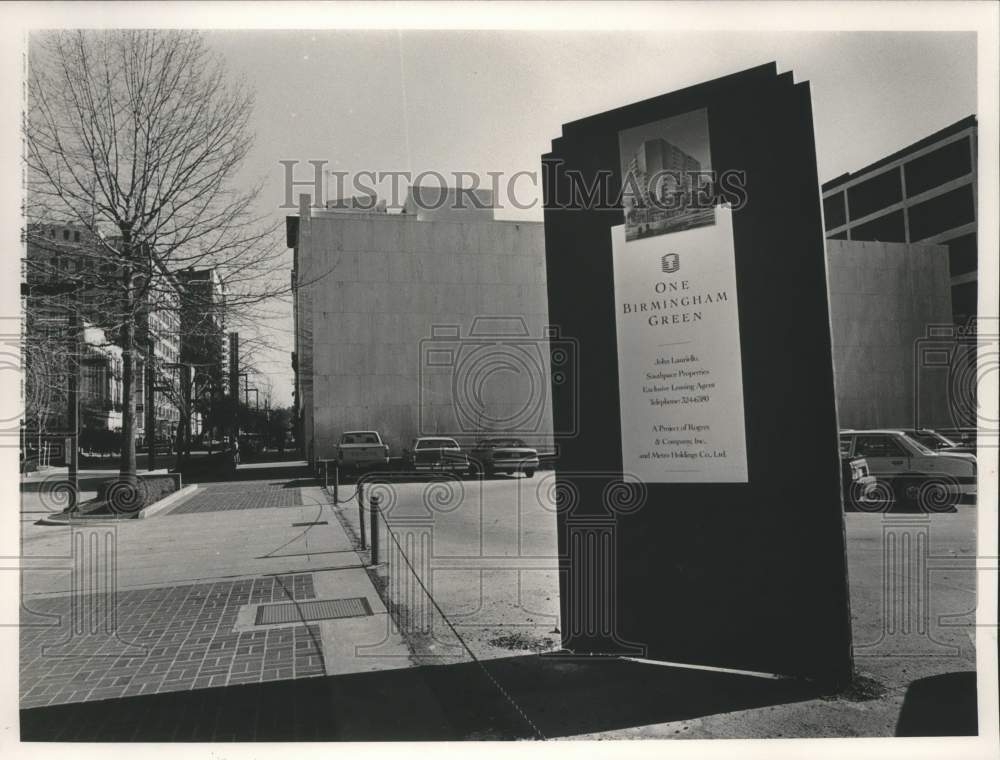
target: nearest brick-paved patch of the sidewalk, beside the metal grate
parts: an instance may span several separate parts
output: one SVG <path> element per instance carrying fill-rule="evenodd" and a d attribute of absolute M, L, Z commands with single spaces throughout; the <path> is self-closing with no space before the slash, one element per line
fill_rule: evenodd
<path fill-rule="evenodd" d="M 135 646 L 117 657 L 100 654 L 122 647 L 108 636 L 70 638 L 74 597 L 33 598 L 60 622 L 21 629 L 21 707 L 321 676 L 317 625 L 234 631 L 241 607 L 313 598 L 309 573 L 121 591 L 119 639 Z"/>

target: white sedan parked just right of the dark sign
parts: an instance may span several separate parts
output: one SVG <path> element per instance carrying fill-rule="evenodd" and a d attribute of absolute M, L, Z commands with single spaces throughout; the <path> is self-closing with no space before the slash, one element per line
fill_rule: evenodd
<path fill-rule="evenodd" d="M 842 430 L 841 455 L 864 457 L 871 474 L 897 504 L 948 511 L 975 502 L 976 458 L 931 451 L 902 430 Z"/>

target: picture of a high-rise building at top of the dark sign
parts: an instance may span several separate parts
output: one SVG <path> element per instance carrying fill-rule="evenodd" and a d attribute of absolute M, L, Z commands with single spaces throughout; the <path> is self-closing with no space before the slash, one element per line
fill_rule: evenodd
<path fill-rule="evenodd" d="M 618 141 L 626 240 L 715 223 L 704 109 L 623 130 Z"/>

